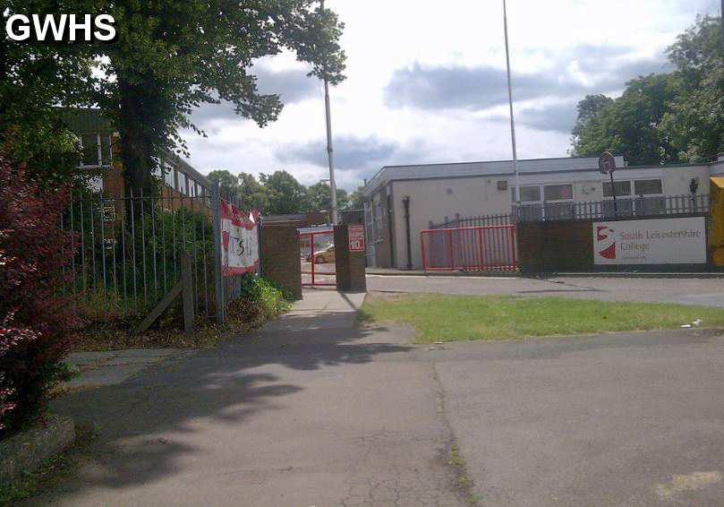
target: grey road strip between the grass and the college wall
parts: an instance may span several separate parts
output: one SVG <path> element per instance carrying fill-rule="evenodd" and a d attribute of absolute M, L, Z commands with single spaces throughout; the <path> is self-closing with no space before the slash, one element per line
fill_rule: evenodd
<path fill-rule="evenodd" d="M 724 280 L 701 278 L 454 277 L 367 275 L 367 288 L 382 292 L 559 296 L 604 301 L 645 301 L 724 307 Z"/>

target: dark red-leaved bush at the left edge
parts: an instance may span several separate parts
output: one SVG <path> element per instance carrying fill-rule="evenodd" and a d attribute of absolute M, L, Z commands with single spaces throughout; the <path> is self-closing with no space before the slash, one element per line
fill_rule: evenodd
<path fill-rule="evenodd" d="M 41 190 L 0 153 L 0 438 L 40 415 L 80 324 L 63 296 L 72 257 L 60 228 L 67 195 Z"/>

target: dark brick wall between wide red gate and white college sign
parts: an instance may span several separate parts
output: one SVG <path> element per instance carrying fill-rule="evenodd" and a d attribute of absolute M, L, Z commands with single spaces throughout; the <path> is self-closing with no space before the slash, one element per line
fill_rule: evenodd
<path fill-rule="evenodd" d="M 522 271 L 592 271 L 592 220 L 555 220 L 518 224 Z"/>

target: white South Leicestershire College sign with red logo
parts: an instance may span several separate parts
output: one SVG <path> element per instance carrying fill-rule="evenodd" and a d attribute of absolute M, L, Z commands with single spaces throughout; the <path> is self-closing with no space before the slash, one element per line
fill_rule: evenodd
<path fill-rule="evenodd" d="M 593 263 L 703 264 L 706 223 L 685 219 L 593 222 Z"/>

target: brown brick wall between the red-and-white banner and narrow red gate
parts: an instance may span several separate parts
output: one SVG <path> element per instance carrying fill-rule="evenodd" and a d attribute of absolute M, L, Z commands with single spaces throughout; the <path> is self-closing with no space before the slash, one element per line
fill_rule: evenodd
<path fill-rule="evenodd" d="M 262 275 L 302 299 L 302 263 L 299 260 L 299 231 L 294 226 L 261 229 Z"/>

